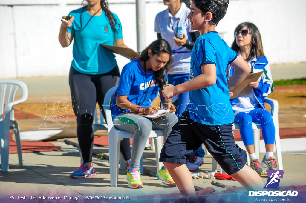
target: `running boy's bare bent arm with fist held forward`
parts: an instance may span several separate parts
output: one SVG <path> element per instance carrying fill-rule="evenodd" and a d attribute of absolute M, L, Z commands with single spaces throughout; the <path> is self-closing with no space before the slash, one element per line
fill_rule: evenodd
<path fill-rule="evenodd" d="M 165 85 L 162 89 L 162 93 L 169 99 L 177 94 L 188 92 L 191 90 L 198 90 L 205 87 L 214 85 L 217 81 L 216 65 L 215 64 L 203 64 L 201 66 L 202 74 L 196 76 L 192 80 L 185 83 L 173 85 Z"/>

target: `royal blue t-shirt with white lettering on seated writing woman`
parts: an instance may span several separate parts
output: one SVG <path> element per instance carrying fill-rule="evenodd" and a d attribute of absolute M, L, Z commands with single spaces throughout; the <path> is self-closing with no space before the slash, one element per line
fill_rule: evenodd
<path fill-rule="evenodd" d="M 156 75 L 153 70 L 147 71 L 146 75 L 144 68 L 140 64 L 140 59 L 135 59 L 123 67 L 119 85 L 110 108 L 113 120 L 120 113 L 129 112 L 129 110 L 121 109 L 116 105 L 117 94 L 128 95 L 128 100 L 136 105 L 151 105 L 150 100 L 153 101 L 156 98 L 160 88 L 157 85 Z M 166 74 L 166 83 L 167 81 L 168 74 Z"/>

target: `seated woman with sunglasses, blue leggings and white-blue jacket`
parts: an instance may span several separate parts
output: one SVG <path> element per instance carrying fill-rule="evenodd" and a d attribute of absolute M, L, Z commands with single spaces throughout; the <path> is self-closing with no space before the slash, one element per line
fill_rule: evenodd
<path fill-rule="evenodd" d="M 263 45 L 258 28 L 252 23 L 241 23 L 235 29 L 235 39 L 231 47 L 241 58 L 248 63 L 251 73 L 262 72 L 258 81 L 251 82 L 251 93 L 242 97 L 231 99 L 235 120 L 240 124 L 241 139 L 248 151 L 251 168 L 259 175 L 266 174 L 265 168 L 277 170 L 273 146 L 275 140 L 275 127 L 271 114 L 265 110 L 264 98 L 273 92 L 273 80 L 267 58 L 263 54 Z M 234 68 L 226 69 L 227 79 L 234 72 Z M 232 93 L 230 92 L 232 96 Z M 262 124 L 262 134 L 266 146 L 266 155 L 262 162 L 257 158 L 254 150 L 254 135 L 252 122 Z M 265 168 L 264 168 L 265 167 Z"/>

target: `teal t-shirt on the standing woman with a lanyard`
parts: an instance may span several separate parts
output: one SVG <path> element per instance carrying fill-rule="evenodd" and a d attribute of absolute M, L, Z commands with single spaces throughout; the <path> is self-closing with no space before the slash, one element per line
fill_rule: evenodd
<path fill-rule="evenodd" d="M 110 27 L 104 11 L 101 15 L 93 17 L 84 8 L 69 13 L 74 17 L 72 28 L 76 30 L 68 29 L 69 33 L 74 34 L 73 61 L 71 65 L 76 71 L 92 75 L 103 74 L 110 72 L 116 66 L 115 55 L 100 45 L 113 46 L 114 39 L 122 39 L 120 20 L 116 14 L 112 14 L 118 23 L 115 24 L 117 30 L 115 33 Z M 90 18 L 91 20 L 89 21 Z M 86 24 L 87 26 L 85 27 Z M 84 30 L 77 31 L 83 28 Z"/>

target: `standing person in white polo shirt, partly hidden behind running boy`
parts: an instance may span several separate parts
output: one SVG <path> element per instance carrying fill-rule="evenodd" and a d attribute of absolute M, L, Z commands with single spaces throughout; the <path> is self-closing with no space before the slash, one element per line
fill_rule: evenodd
<path fill-rule="evenodd" d="M 164 0 L 164 5 L 168 8 L 156 15 L 155 32 L 158 39 L 166 39 L 171 46 L 173 62 L 169 67 L 168 84 L 178 85 L 189 80 L 191 50 L 200 32 L 190 28 L 187 18 L 190 13 L 189 0 Z M 176 101 L 176 114 L 180 118 L 189 103 L 188 92 L 178 94 Z M 197 170 L 203 164 L 204 155 L 201 146 L 187 157 L 187 168 Z"/>

